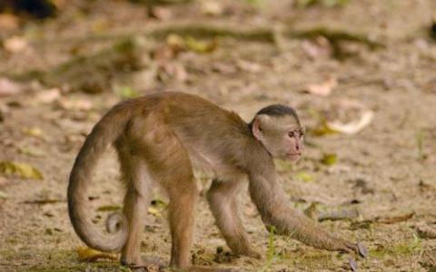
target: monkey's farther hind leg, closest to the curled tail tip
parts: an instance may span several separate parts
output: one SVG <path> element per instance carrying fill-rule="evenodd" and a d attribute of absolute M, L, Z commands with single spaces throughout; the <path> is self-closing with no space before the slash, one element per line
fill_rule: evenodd
<path fill-rule="evenodd" d="M 121 263 L 128 267 L 145 267 L 139 249 L 153 190 L 152 181 L 144 160 L 121 152 L 119 155 L 123 180 L 127 187 L 123 212 L 129 222 L 129 236 L 121 252 Z"/>

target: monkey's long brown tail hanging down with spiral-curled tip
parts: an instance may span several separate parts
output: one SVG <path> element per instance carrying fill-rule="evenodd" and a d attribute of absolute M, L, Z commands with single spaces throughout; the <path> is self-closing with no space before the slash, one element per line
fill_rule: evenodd
<path fill-rule="evenodd" d="M 68 184 L 68 212 L 75 232 L 88 247 L 106 252 L 116 252 L 123 248 L 128 235 L 127 219 L 122 213 L 111 214 L 106 219 L 106 229 L 110 236 L 96 229 L 91 220 L 87 219 L 87 181 L 92 177 L 98 158 L 124 130 L 126 119 L 121 114 L 108 112 L 94 126 L 74 161 Z"/>

